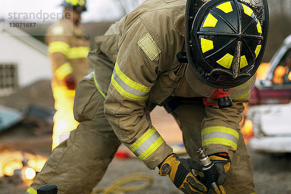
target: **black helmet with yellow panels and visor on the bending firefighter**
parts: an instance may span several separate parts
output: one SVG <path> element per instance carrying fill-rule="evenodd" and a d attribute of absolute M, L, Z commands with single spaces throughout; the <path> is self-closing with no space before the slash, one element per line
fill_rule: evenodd
<path fill-rule="evenodd" d="M 241 96 L 253 86 L 266 46 L 267 2 L 209 0 L 195 12 L 197 2 L 186 5 L 187 81 L 204 96 L 217 88 Z"/>

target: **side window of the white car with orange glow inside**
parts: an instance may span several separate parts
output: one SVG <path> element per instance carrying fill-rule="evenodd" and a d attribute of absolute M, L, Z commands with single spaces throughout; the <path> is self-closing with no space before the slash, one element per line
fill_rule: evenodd
<path fill-rule="evenodd" d="M 274 84 L 291 84 L 291 50 L 286 52 L 275 68 L 272 82 Z"/>

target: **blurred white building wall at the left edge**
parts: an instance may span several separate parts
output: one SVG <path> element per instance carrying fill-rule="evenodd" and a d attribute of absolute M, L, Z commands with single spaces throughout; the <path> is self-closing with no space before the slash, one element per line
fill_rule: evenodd
<path fill-rule="evenodd" d="M 18 85 L 24 87 L 35 81 L 51 79 L 49 57 L 22 41 L 21 38 L 0 32 L 0 64 L 18 65 Z"/>

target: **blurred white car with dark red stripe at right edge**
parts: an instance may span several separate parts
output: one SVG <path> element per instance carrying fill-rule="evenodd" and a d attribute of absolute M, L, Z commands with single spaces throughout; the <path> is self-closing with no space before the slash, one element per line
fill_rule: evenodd
<path fill-rule="evenodd" d="M 252 150 L 291 153 L 291 35 L 270 63 L 261 64 L 247 117 L 253 123 Z M 263 74 L 263 75 L 262 75 Z"/>

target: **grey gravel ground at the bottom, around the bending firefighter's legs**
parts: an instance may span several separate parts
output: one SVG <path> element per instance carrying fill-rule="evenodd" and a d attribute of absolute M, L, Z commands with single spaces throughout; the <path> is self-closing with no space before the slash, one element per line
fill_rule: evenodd
<path fill-rule="evenodd" d="M 291 194 L 291 156 L 270 156 L 250 151 L 255 172 L 257 194 Z M 186 157 L 186 156 L 184 156 Z M 148 170 L 136 158 L 113 159 L 97 188 L 109 186 L 114 180 L 131 173 L 145 173 L 154 182 L 146 190 L 127 192 L 127 194 L 182 194 L 167 177 L 160 177 L 157 170 Z M 144 182 L 138 182 L 144 183 Z M 9 183 L 0 186 L 0 194 L 24 194 L 26 186 Z"/>

